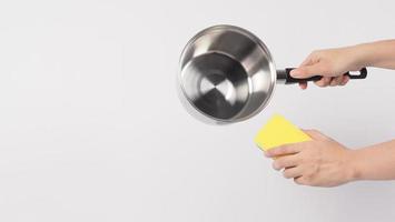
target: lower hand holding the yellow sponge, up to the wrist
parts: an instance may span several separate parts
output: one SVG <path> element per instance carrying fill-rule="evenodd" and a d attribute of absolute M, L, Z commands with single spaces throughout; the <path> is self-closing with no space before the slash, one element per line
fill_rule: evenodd
<path fill-rule="evenodd" d="M 286 179 L 313 186 L 336 186 L 354 180 L 352 150 L 316 130 L 305 130 L 313 141 L 286 144 L 265 152 Z"/>

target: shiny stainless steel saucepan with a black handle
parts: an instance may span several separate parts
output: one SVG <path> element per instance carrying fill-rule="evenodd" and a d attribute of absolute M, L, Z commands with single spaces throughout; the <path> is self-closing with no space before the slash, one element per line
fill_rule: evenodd
<path fill-rule="evenodd" d="M 187 110 L 207 123 L 247 120 L 269 102 L 276 82 L 294 79 L 292 68 L 276 70 L 268 48 L 251 32 L 234 26 L 215 26 L 197 33 L 185 47 L 178 75 L 179 94 Z M 366 69 L 350 79 L 365 79 Z"/>

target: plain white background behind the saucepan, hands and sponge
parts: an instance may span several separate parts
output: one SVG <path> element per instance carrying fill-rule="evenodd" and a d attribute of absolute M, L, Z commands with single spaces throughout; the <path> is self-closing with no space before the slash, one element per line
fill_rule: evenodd
<path fill-rule="evenodd" d="M 253 143 L 273 113 L 353 149 L 395 137 L 395 71 L 345 88 L 278 85 L 246 122 L 180 105 L 179 54 L 218 23 L 278 68 L 314 49 L 395 38 L 394 1 L 1 1 L 0 221 L 394 221 L 395 183 L 298 186 Z"/>

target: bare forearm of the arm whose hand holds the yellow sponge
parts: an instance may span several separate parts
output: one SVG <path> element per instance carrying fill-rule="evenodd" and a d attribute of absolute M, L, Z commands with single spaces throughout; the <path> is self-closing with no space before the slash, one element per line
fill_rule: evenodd
<path fill-rule="evenodd" d="M 395 140 L 352 151 L 353 180 L 395 180 Z"/>

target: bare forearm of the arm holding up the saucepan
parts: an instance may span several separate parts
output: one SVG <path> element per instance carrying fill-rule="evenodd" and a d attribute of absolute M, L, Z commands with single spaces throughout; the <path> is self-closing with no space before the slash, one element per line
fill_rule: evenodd
<path fill-rule="evenodd" d="M 352 49 L 359 67 L 395 69 L 395 40 L 357 44 Z"/>

